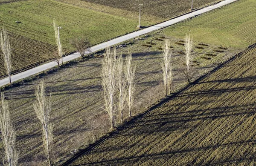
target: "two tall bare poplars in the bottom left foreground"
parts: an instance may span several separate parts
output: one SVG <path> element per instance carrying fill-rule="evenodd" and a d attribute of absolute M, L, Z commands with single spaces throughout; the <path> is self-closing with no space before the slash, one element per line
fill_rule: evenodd
<path fill-rule="evenodd" d="M 43 149 L 47 157 L 49 166 L 52 166 L 51 153 L 53 134 L 52 124 L 49 123 L 49 113 L 51 111 L 50 97 L 47 98 L 44 81 L 41 81 L 35 89 L 36 101 L 34 110 L 38 120 L 42 125 L 43 135 Z M 5 158 L 3 158 L 4 166 L 17 166 L 19 152 L 15 149 L 16 132 L 12 124 L 8 103 L 3 93 L 1 93 L 1 106 L 0 106 L 0 130 L 3 142 L 3 149 Z"/>

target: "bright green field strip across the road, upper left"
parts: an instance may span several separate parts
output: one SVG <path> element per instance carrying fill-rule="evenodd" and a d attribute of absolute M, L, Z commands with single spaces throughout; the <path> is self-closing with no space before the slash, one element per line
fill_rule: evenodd
<path fill-rule="evenodd" d="M 62 27 L 62 40 L 71 37 L 72 32 L 84 32 L 92 44 L 134 31 L 137 26 L 137 19 L 131 20 L 53 0 L 8 3 L 1 5 L 0 10 L 0 23 L 9 31 L 53 45 L 53 19 Z M 22 23 L 17 24 L 15 21 Z M 67 43 L 64 42 L 64 46 Z"/>

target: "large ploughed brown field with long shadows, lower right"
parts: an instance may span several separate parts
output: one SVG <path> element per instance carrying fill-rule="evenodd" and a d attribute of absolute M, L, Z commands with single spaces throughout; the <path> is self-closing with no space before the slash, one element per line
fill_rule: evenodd
<path fill-rule="evenodd" d="M 255 58 L 254 45 L 70 165 L 255 165 Z"/>

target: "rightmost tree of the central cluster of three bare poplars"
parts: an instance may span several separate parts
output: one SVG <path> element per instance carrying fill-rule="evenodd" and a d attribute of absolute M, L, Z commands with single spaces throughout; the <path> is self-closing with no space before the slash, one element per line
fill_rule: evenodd
<path fill-rule="evenodd" d="M 131 52 L 128 52 L 128 55 L 125 57 L 125 77 L 127 80 L 127 104 L 129 107 L 129 117 L 131 117 L 131 109 L 134 104 L 134 75 L 135 75 L 135 66 L 131 64 L 132 55 Z"/>

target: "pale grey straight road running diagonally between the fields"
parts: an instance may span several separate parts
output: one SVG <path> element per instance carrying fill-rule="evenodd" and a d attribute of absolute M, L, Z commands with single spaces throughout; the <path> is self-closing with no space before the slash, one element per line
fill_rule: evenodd
<path fill-rule="evenodd" d="M 134 32 L 131 32 L 129 34 L 123 35 L 121 37 L 114 38 L 112 40 L 109 40 L 109 41 L 106 41 L 104 43 L 100 43 L 98 45 L 90 47 L 90 52 L 86 52 L 86 54 L 90 54 L 91 52 L 97 52 L 99 50 L 102 50 L 102 49 L 105 49 L 107 47 L 116 45 L 118 43 L 125 42 L 126 40 L 133 39 L 133 38 L 141 36 L 143 34 L 147 34 L 147 33 L 152 32 L 152 31 L 156 31 L 156 30 L 159 30 L 159 29 L 166 28 L 168 26 L 174 25 L 174 24 L 179 23 L 179 22 L 181 22 L 183 20 L 186 20 L 188 18 L 192 18 L 192 17 L 198 16 L 200 14 L 206 13 L 208 11 L 218 9 L 222 6 L 228 5 L 228 4 L 236 2 L 236 1 L 238 1 L 238 0 L 224 0 L 224 1 L 221 1 L 219 3 L 216 3 L 215 5 L 207 6 L 203 9 L 198 9 L 196 11 L 192 11 L 190 13 L 177 16 L 177 17 L 175 17 L 171 20 L 165 21 L 163 23 L 159 23 L 159 24 L 156 24 L 156 25 L 153 25 L 153 26 L 149 26 L 148 28 L 141 29 L 141 30 L 138 30 L 138 31 L 134 31 Z M 79 54 L 79 52 L 76 52 L 74 54 L 70 54 L 68 56 L 63 57 L 63 62 L 68 62 L 68 61 L 74 60 L 78 57 L 80 57 L 80 54 Z M 52 62 L 49 62 L 49 63 L 42 64 L 40 66 L 36 66 L 35 68 L 26 70 L 24 72 L 14 74 L 14 75 L 12 75 L 12 82 L 24 79 L 24 78 L 32 76 L 34 74 L 38 74 L 40 72 L 44 72 L 45 70 L 51 69 L 55 66 L 57 66 L 57 63 L 55 61 L 52 61 Z M 5 78 L 0 80 L 0 87 L 8 85 L 8 84 L 9 84 L 9 78 L 8 77 L 5 77 Z"/>

